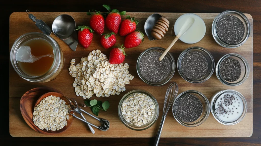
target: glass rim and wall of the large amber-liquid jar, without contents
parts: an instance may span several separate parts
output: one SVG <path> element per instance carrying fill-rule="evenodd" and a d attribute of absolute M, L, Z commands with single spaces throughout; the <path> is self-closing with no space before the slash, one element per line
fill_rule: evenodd
<path fill-rule="evenodd" d="M 25 42 L 36 38 L 44 39 L 51 44 L 54 52 L 54 62 L 45 74 L 40 76 L 30 76 L 21 70 L 16 61 L 15 54 L 17 49 L 19 49 Z M 59 44 L 49 35 L 38 32 L 23 34 L 15 40 L 10 52 L 10 61 L 16 73 L 20 75 L 20 77 L 22 77 L 23 79 L 30 82 L 48 82 L 50 80 L 53 80 L 56 78 L 58 74 L 61 73 L 64 67 L 63 51 L 60 48 Z"/>

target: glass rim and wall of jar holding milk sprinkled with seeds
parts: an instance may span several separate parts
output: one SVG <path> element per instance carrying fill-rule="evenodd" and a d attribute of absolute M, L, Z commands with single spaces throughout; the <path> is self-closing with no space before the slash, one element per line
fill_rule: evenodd
<path fill-rule="evenodd" d="M 242 115 L 241 115 L 237 120 L 235 120 L 235 121 L 233 121 L 233 122 L 225 122 L 225 121 L 223 121 L 223 120 L 220 120 L 220 119 L 218 118 L 218 116 L 216 115 L 216 112 L 215 112 L 215 104 L 216 104 L 216 101 L 217 101 L 217 99 L 218 99 L 222 94 L 224 94 L 224 93 L 234 93 L 234 94 L 238 95 L 238 96 L 242 99 L 242 101 L 243 101 L 243 105 L 244 105 L 243 113 L 242 113 Z M 216 94 L 214 94 L 214 96 L 211 97 L 210 102 L 211 102 L 211 104 L 210 104 L 210 110 L 211 110 L 211 113 L 212 113 L 213 117 L 214 117 L 219 123 L 221 123 L 221 124 L 223 124 L 223 125 L 235 125 L 235 124 L 239 123 L 241 120 L 243 120 L 244 117 L 246 116 L 246 112 L 247 112 L 246 99 L 245 99 L 245 97 L 244 97 L 241 93 L 239 93 L 238 91 L 235 91 L 235 90 L 222 90 L 222 91 L 219 91 L 219 92 L 217 92 Z"/>

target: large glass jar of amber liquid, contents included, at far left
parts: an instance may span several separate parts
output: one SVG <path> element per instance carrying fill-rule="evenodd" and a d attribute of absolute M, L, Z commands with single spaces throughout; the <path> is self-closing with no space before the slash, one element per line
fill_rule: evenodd
<path fill-rule="evenodd" d="M 11 48 L 10 61 L 17 74 L 31 82 L 51 81 L 64 67 L 59 44 L 52 37 L 37 32 L 16 39 Z"/>

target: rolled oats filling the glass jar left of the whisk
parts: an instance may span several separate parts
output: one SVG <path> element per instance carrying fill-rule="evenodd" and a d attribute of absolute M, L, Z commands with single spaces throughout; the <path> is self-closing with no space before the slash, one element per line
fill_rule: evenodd
<path fill-rule="evenodd" d="M 128 123 L 141 126 L 154 117 L 155 104 L 146 94 L 134 93 L 123 101 L 121 114 Z"/>

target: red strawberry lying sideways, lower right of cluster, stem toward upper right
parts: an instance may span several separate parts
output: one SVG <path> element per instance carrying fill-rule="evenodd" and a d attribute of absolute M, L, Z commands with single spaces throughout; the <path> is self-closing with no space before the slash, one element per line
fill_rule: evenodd
<path fill-rule="evenodd" d="M 127 35 L 124 41 L 125 48 L 137 47 L 144 40 L 144 34 L 139 30 Z"/>

